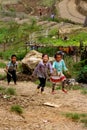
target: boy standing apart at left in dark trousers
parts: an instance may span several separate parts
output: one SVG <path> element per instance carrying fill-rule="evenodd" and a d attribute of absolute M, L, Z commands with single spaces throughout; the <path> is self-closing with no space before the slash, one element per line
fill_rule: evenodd
<path fill-rule="evenodd" d="M 13 79 L 14 84 L 16 85 L 16 80 L 17 80 L 17 76 L 16 76 L 17 62 L 16 62 L 16 59 L 17 59 L 16 55 L 12 55 L 11 61 L 6 66 L 8 85 L 11 81 L 11 78 Z"/>

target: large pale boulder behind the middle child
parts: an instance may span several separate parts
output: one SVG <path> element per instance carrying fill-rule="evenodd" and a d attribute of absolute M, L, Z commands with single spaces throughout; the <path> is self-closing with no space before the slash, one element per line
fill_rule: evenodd
<path fill-rule="evenodd" d="M 30 51 L 22 60 L 23 73 L 32 74 L 37 64 L 42 60 L 42 53 L 35 50 Z M 53 62 L 54 58 L 49 57 L 49 61 Z"/>

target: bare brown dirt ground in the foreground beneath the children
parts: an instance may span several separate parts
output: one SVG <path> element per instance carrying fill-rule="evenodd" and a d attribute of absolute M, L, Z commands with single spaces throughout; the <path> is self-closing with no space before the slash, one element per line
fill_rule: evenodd
<path fill-rule="evenodd" d="M 37 94 L 36 85 L 32 82 L 18 82 L 7 86 L 5 81 L 0 81 L 1 86 L 13 87 L 17 96 L 10 100 L 0 99 L 0 130 L 86 130 L 81 123 L 66 119 L 61 113 L 87 112 L 87 96 L 81 91 L 70 90 L 68 94 L 57 90 L 51 94 L 51 88 L 45 88 L 45 95 Z M 58 108 L 44 106 L 50 102 L 58 105 Z M 19 104 L 24 108 L 23 116 L 10 112 L 13 104 Z"/>

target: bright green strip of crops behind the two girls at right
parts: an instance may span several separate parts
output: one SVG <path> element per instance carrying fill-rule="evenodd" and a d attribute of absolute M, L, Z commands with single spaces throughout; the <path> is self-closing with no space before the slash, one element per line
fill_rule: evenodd
<path fill-rule="evenodd" d="M 52 31 L 51 31 L 52 32 Z M 54 35 L 56 34 L 56 35 Z M 75 35 L 70 35 L 69 40 L 64 41 L 61 38 L 58 39 L 58 33 L 57 30 L 55 32 L 50 33 L 49 37 L 40 37 L 38 38 L 39 43 L 44 43 L 44 44 L 50 44 L 54 46 L 79 46 L 80 45 L 80 40 L 84 39 L 84 45 L 87 45 L 87 32 L 79 32 Z M 51 37 L 50 37 L 51 36 Z M 56 38 L 52 38 L 52 36 L 56 36 Z"/>

